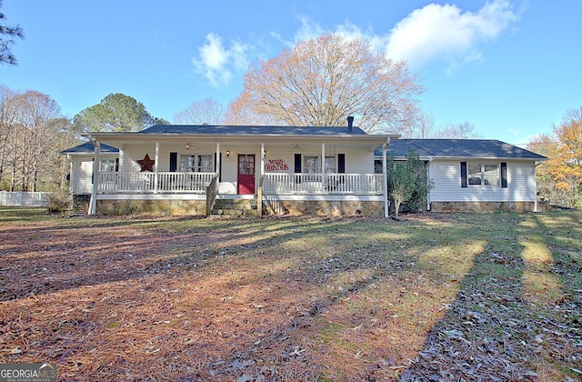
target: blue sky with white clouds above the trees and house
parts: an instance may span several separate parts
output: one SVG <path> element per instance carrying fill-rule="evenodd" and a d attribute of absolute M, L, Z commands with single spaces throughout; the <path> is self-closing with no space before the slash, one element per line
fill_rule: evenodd
<path fill-rule="evenodd" d="M 25 39 L 0 84 L 50 95 L 69 117 L 111 93 L 170 122 L 207 97 L 226 105 L 250 62 L 329 32 L 406 60 L 439 126 L 521 145 L 582 106 L 579 0 L 4 0 L 1 11 Z"/>

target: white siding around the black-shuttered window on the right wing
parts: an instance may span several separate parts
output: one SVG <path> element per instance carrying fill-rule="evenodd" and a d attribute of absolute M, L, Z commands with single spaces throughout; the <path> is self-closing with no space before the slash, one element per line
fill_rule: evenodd
<path fill-rule="evenodd" d="M 536 200 L 536 177 L 533 162 L 507 161 L 507 188 L 498 186 L 461 187 L 459 161 L 435 160 L 429 167 L 431 202 L 533 202 Z M 480 161 L 497 163 L 495 161 Z"/>

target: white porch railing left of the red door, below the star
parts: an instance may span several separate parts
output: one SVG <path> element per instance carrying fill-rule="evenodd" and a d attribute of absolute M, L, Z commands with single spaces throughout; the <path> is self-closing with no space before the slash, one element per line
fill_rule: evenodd
<path fill-rule="evenodd" d="M 215 173 L 100 173 L 100 194 L 206 194 Z"/>

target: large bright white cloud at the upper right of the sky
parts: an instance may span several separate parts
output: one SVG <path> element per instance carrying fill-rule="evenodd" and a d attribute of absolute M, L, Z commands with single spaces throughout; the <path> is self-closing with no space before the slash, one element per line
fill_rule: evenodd
<path fill-rule="evenodd" d="M 478 45 L 495 39 L 517 18 L 507 0 L 488 2 L 477 13 L 457 5 L 426 5 L 396 23 L 386 55 L 415 67 L 433 60 L 462 65 L 481 59 Z"/>

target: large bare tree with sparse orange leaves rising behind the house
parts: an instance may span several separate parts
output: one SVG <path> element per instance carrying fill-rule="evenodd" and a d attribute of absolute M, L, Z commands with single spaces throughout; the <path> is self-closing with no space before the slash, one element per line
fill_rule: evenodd
<path fill-rule="evenodd" d="M 405 62 L 371 53 L 363 40 L 323 35 L 250 65 L 227 123 L 345 126 L 368 133 L 403 131 L 414 122 L 422 93 Z"/>

